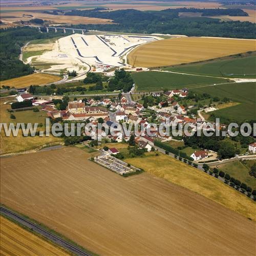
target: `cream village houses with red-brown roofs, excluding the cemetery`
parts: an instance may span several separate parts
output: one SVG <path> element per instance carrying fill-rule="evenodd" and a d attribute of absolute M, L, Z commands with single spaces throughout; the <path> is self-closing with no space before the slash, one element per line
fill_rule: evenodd
<path fill-rule="evenodd" d="M 157 94 L 157 93 L 155 93 Z M 155 111 L 156 120 L 158 123 L 166 123 L 170 125 L 181 124 L 190 124 L 190 129 L 197 131 L 198 127 L 201 130 L 215 131 L 216 127 L 213 123 L 213 127 L 209 127 L 205 121 L 197 118 L 190 118 L 186 116 L 186 110 L 184 106 L 180 105 L 175 101 L 175 96 L 178 97 L 187 97 L 188 90 L 172 90 L 164 93 L 167 96 L 167 102 L 172 105 L 177 111 L 164 112 L 161 110 L 161 105 L 163 102 L 159 103 L 160 108 Z M 158 96 L 158 95 L 156 95 Z M 160 96 L 160 94 L 159 94 Z M 174 97 L 174 98 L 173 98 Z M 46 111 L 47 115 L 53 119 L 61 118 L 66 121 L 84 121 L 90 122 L 92 125 L 97 127 L 98 119 L 102 118 L 108 126 L 111 126 L 113 123 L 127 123 L 138 125 L 139 127 L 144 127 L 146 129 L 149 121 L 148 115 L 145 115 L 145 109 L 142 104 L 138 102 L 128 102 L 126 97 L 121 96 L 120 99 L 108 99 L 104 98 L 102 100 L 88 99 L 86 103 L 82 100 L 76 100 L 68 102 L 66 110 L 58 110 L 54 105 L 52 100 L 44 99 L 34 99 L 32 94 L 23 93 L 16 97 L 18 102 L 25 100 L 32 100 L 34 106 L 41 106 L 42 111 Z M 101 120 L 102 122 L 102 120 Z M 222 129 L 225 126 L 220 126 Z M 140 148 L 146 148 L 147 151 L 151 151 L 154 147 L 154 139 L 159 139 L 161 142 L 172 140 L 172 136 L 163 136 L 159 133 L 157 129 L 150 128 L 151 134 L 153 137 L 148 137 L 146 132 L 141 132 L 141 135 L 135 138 L 135 143 Z M 116 132 L 115 135 L 106 135 L 104 131 L 96 131 L 96 134 L 92 139 L 97 139 L 99 134 L 102 137 L 111 139 L 112 141 L 122 142 L 123 140 L 128 141 L 130 138 L 124 136 L 124 132 Z M 256 143 L 252 143 L 248 148 L 249 152 L 256 153 Z M 118 152 L 112 152 L 112 154 L 117 154 Z M 208 153 L 206 151 L 197 151 L 194 152 L 191 156 L 195 161 L 207 158 Z"/>

